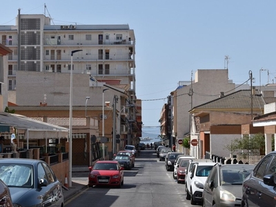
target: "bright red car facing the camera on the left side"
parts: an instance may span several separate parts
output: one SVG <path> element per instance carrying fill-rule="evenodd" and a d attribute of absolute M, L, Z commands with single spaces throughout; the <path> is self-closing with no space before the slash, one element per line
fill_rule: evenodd
<path fill-rule="evenodd" d="M 117 186 L 124 185 L 124 168 L 118 161 L 97 161 L 89 167 L 88 186 Z"/>

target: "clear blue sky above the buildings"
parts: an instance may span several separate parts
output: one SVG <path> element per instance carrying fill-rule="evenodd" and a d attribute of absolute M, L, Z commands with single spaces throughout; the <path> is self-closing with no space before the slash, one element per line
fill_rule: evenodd
<path fill-rule="evenodd" d="M 251 70 L 258 86 L 261 68 L 269 70 L 262 72 L 262 85 L 275 81 L 275 0 L 1 1 L 0 25 L 15 24 L 19 8 L 43 14 L 44 3 L 55 24 L 128 23 L 135 31 L 144 126 L 159 126 L 161 108 L 179 81 L 198 69 L 224 69 L 226 55 L 234 83 L 244 83 Z"/>

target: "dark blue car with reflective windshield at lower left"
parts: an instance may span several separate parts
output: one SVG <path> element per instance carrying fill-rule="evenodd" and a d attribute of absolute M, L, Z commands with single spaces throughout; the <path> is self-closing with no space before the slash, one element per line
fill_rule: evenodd
<path fill-rule="evenodd" d="M 45 161 L 6 158 L 0 179 L 10 189 L 14 206 L 63 206 L 62 186 Z"/>

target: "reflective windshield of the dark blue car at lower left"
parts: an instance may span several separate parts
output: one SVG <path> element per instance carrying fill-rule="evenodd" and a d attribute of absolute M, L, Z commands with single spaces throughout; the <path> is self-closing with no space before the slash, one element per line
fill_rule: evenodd
<path fill-rule="evenodd" d="M 33 182 L 32 166 L 23 164 L 0 164 L 0 179 L 8 187 L 30 188 Z"/>

